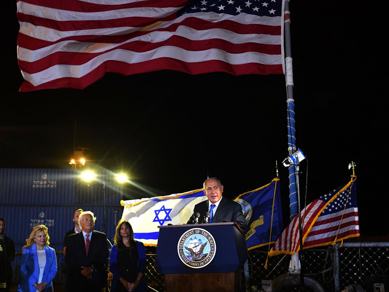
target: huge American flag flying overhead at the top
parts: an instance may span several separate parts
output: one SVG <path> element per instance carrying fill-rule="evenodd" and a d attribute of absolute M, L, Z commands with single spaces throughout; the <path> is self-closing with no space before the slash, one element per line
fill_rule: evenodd
<path fill-rule="evenodd" d="M 283 0 L 17 0 L 20 91 L 106 72 L 282 74 Z"/>

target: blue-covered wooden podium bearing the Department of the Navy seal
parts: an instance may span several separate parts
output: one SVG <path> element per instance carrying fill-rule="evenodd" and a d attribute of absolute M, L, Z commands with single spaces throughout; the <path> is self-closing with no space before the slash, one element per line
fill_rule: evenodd
<path fill-rule="evenodd" d="M 248 252 L 236 223 L 159 228 L 155 268 L 164 274 L 166 292 L 240 291 Z"/>

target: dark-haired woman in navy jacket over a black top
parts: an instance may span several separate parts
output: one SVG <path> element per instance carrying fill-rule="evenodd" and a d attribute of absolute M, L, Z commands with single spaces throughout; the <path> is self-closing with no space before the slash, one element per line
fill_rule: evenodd
<path fill-rule="evenodd" d="M 134 240 L 134 232 L 128 221 L 119 221 L 114 242 L 109 259 L 109 269 L 113 274 L 111 291 L 145 292 L 146 251 L 143 243 Z"/>

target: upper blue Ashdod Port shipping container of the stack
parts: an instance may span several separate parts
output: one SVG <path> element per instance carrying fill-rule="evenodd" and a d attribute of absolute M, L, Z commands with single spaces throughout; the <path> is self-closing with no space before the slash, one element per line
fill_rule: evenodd
<path fill-rule="evenodd" d="M 120 205 L 121 185 L 112 172 L 100 171 L 98 180 L 85 182 L 74 169 L 0 168 L 1 205 Z"/>

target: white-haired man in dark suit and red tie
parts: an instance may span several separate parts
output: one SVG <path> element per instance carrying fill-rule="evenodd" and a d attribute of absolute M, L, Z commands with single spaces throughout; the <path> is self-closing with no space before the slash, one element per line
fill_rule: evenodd
<path fill-rule="evenodd" d="M 106 235 L 93 230 L 95 220 L 92 212 L 82 212 L 79 217 L 82 232 L 68 237 L 66 291 L 101 292 L 106 288 L 108 246 Z"/>

